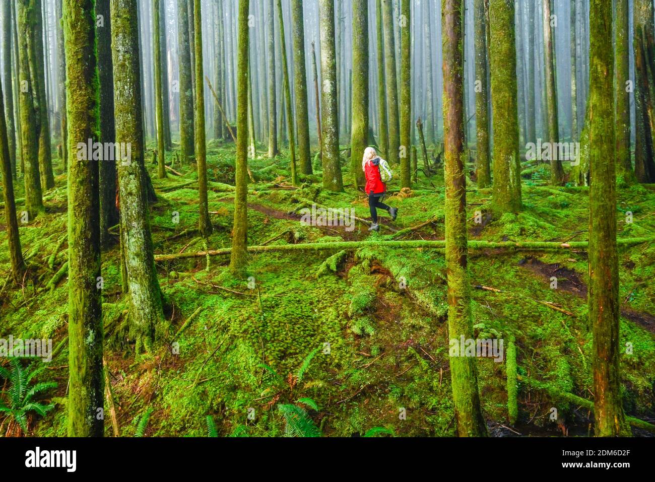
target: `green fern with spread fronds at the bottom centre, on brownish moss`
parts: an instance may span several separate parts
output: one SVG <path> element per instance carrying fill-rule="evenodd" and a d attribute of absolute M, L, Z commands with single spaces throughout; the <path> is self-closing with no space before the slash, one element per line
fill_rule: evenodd
<path fill-rule="evenodd" d="M 265 408 L 270 409 L 277 403 L 278 413 L 284 418 L 284 434 L 287 437 L 320 437 L 321 431 L 314 424 L 314 420 L 307 412 L 309 409 L 318 411 L 319 407 L 314 399 L 301 397 L 292 401 L 299 390 L 316 388 L 324 386 L 320 380 L 309 380 L 301 386 L 309 365 L 318 353 L 318 348 L 313 350 L 301 363 L 295 373 L 289 373 L 286 377 L 281 377 L 274 369 L 266 363 L 259 363 L 259 367 L 265 369 L 272 375 L 272 385 L 266 388 L 262 395 L 274 392 L 271 400 L 266 403 Z M 287 403 L 278 403 L 280 399 L 286 399 Z"/>

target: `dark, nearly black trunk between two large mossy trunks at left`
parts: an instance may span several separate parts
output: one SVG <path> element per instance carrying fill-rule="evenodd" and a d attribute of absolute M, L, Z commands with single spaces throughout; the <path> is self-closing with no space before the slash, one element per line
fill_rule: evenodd
<path fill-rule="evenodd" d="M 109 0 L 96 0 L 96 15 L 102 16 L 98 22 L 98 79 L 100 80 L 100 141 L 114 143 L 116 126 L 114 120 L 114 75 L 111 59 L 111 12 Z M 103 149 L 103 152 L 105 149 Z M 100 244 L 107 248 L 111 242 L 109 228 L 119 223 L 116 207 L 116 160 L 103 158 L 100 162 Z"/>

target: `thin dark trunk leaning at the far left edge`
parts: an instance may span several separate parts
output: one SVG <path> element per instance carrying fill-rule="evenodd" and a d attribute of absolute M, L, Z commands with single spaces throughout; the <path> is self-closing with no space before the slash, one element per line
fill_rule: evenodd
<path fill-rule="evenodd" d="M 3 14 L 9 14 L 5 10 Z M 11 31 L 11 29 L 10 29 Z M 7 46 L 7 44 L 5 44 Z M 11 86 L 11 82 L 7 83 Z M 9 261 L 11 264 L 11 275 L 14 283 L 22 281 L 25 272 L 23 253 L 20 250 L 20 238 L 18 236 L 18 218 L 16 217 L 16 202 L 14 201 L 14 182 L 12 179 L 11 153 L 9 151 L 9 139 L 7 138 L 7 124 L 5 117 L 1 115 L 5 111 L 3 90 L 0 85 L 0 164 L 2 164 L 2 193 L 5 201 L 5 224 L 7 229 L 7 240 L 9 241 Z M 14 113 L 12 111 L 11 115 Z M 16 158 L 14 157 L 14 161 Z M 15 167 L 15 164 L 14 164 Z"/>

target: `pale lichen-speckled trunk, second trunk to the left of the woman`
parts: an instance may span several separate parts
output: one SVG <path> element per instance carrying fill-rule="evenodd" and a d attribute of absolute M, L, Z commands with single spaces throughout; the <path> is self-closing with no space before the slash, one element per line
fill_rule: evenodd
<path fill-rule="evenodd" d="M 323 137 L 323 187 L 329 191 L 343 191 L 341 157 L 339 155 L 339 118 L 337 117 L 337 63 L 334 41 L 334 1 L 319 0 L 321 38 Z"/>

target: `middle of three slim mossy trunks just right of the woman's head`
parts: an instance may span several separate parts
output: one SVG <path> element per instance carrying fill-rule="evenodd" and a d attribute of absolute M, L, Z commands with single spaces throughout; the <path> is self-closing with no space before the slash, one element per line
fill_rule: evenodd
<path fill-rule="evenodd" d="M 400 133 L 398 132 L 398 77 L 396 77 L 396 43 L 394 40 L 394 13 L 392 0 L 382 0 L 384 26 L 384 72 L 386 74 L 386 108 L 388 114 L 389 145 L 387 158 L 398 164 Z"/>

